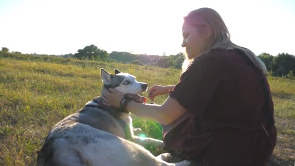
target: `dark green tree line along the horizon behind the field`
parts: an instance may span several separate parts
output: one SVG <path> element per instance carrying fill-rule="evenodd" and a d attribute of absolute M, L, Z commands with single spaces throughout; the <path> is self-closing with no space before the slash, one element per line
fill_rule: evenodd
<path fill-rule="evenodd" d="M 9 49 L 2 47 L 2 53 L 9 52 Z M 21 52 L 15 51 L 14 54 L 21 54 Z M 33 55 L 38 55 L 34 53 Z M 130 52 L 113 51 L 110 54 L 98 49 L 95 45 L 86 46 L 83 49 L 77 50 L 76 53 L 62 55 L 64 58 L 77 58 L 80 60 L 90 61 L 103 61 L 103 62 L 121 62 L 131 63 L 135 65 L 151 65 L 159 67 L 173 67 L 181 68 L 181 64 L 184 60 L 184 54 L 182 52 L 176 55 L 159 56 L 159 55 L 146 55 L 146 54 L 133 54 Z M 295 73 L 295 56 L 288 53 L 279 53 L 277 56 L 273 56 L 269 53 L 263 52 L 258 57 L 264 62 L 267 70 L 273 76 L 287 76 L 288 74 L 294 75 Z"/>

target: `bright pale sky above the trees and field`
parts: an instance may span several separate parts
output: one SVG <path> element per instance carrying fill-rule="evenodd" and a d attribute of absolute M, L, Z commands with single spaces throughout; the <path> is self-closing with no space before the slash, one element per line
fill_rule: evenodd
<path fill-rule="evenodd" d="M 177 54 L 183 17 L 201 7 L 216 10 L 231 41 L 256 55 L 295 55 L 295 0 L 0 0 L 0 48 Z"/>

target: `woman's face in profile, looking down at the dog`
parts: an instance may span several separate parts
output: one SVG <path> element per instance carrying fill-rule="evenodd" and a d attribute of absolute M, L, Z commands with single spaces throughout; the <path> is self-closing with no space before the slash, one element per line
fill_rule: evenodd
<path fill-rule="evenodd" d="M 187 24 L 182 26 L 183 41 L 181 47 L 185 47 L 189 59 L 199 56 L 206 47 L 206 26 L 192 27 Z"/>

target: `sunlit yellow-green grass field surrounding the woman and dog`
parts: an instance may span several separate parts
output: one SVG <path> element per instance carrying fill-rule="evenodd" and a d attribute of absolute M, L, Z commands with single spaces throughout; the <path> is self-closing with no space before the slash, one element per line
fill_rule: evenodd
<path fill-rule="evenodd" d="M 131 73 L 149 86 L 175 84 L 180 76 L 180 70 L 154 66 L 0 58 L 0 166 L 35 165 L 36 152 L 51 127 L 100 95 L 101 67 L 112 73 L 114 68 Z M 295 81 L 268 80 L 278 129 L 272 163 L 294 166 Z M 165 98 L 157 97 L 155 102 L 162 103 Z M 133 126 L 142 128 L 148 136 L 162 138 L 160 125 L 152 121 L 133 117 Z"/>

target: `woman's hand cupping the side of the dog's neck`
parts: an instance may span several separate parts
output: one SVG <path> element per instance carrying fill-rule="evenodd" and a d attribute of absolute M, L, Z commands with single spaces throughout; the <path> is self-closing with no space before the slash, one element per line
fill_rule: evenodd
<path fill-rule="evenodd" d="M 124 98 L 124 95 L 114 88 L 110 88 L 109 90 L 104 89 L 101 93 L 101 97 L 105 104 L 113 107 L 120 107 L 120 102 Z"/>

